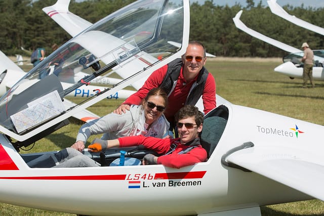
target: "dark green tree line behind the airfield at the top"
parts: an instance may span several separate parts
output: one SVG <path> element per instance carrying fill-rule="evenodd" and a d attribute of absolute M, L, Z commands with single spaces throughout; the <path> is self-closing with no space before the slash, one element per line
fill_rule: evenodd
<path fill-rule="evenodd" d="M 23 54 L 21 47 L 33 50 L 44 47 L 51 51 L 53 44 L 62 45 L 71 36 L 54 22 L 42 8 L 56 0 L 0 0 L 0 50 L 6 55 Z M 94 23 L 134 0 L 71 0 L 69 10 Z M 242 22 L 248 27 L 271 38 L 301 49 L 304 41 L 314 49 L 324 49 L 324 36 L 294 25 L 274 14 L 270 9 L 247 0 L 247 6 L 219 6 L 213 1 L 204 5 L 193 2 L 190 6 L 190 39 L 206 45 L 209 53 L 228 57 L 282 57 L 287 54 L 237 29 L 232 18 L 240 10 Z M 314 25 L 324 26 L 324 8 L 303 5 L 284 9 L 292 15 Z M 50 53 L 47 53 L 50 54 Z"/>

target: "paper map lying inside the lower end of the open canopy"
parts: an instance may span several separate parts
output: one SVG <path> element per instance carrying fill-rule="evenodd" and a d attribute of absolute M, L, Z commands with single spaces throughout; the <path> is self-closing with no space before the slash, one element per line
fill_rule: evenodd
<path fill-rule="evenodd" d="M 11 115 L 18 133 L 35 126 L 55 115 L 65 108 L 57 91 L 51 92 L 27 104 L 27 108 Z"/>

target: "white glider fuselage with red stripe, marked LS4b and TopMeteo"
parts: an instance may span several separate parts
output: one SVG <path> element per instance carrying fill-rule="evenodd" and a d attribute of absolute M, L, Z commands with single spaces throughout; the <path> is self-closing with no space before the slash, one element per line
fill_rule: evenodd
<path fill-rule="evenodd" d="M 292 149 L 310 153 L 320 147 L 323 126 L 237 105 L 227 108 L 226 128 L 209 160 L 181 169 L 163 165 L 30 168 L 2 136 L 0 154 L 7 162 L 0 164 L 0 201 L 91 215 L 184 215 L 311 199 L 255 172 L 225 166 L 221 160 L 231 149 L 252 142 L 254 147 L 246 150 L 258 149 L 261 159 L 251 158 L 248 163 L 308 162 Z M 303 133 L 296 135 L 292 129 L 296 125 Z M 320 160 L 320 153 L 307 156 Z M 282 162 L 281 168 L 286 165 Z M 304 178 L 312 177 L 300 181 Z"/>

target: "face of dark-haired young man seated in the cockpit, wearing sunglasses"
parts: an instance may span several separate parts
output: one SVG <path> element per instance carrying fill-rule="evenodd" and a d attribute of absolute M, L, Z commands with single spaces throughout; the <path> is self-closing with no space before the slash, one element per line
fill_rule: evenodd
<path fill-rule="evenodd" d="M 182 123 L 182 127 L 179 127 L 179 123 Z M 193 124 L 192 128 L 187 128 L 185 123 Z M 190 127 L 190 126 L 188 126 Z M 190 142 L 198 137 L 199 133 L 203 129 L 203 124 L 196 125 L 194 116 L 185 117 L 178 120 L 178 133 L 181 138 L 181 144 Z"/>

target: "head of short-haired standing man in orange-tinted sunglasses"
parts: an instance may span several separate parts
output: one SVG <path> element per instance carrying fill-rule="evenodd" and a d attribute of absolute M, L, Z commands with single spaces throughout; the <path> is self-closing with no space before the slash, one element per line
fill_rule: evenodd
<path fill-rule="evenodd" d="M 192 58 L 191 58 L 192 57 Z M 197 61 L 200 60 L 201 61 Z M 204 48 L 197 44 L 189 44 L 182 57 L 183 76 L 187 81 L 193 79 L 206 63 Z"/>

